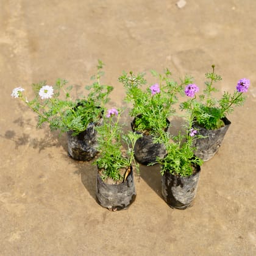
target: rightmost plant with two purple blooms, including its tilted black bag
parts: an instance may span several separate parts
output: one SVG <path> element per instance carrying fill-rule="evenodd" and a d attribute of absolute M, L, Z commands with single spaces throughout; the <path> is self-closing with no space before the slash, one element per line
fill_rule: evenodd
<path fill-rule="evenodd" d="M 205 82 L 203 93 L 196 97 L 199 87 L 196 84 L 189 84 L 185 88 L 185 94 L 190 98 L 182 102 L 180 108 L 190 113 L 193 119 L 193 128 L 197 130 L 197 137 L 194 140 L 196 147 L 195 155 L 207 161 L 216 154 L 221 142 L 229 129 L 230 121 L 227 115 L 232 113 L 235 106 L 244 104 L 246 97 L 244 93 L 249 88 L 249 79 L 240 79 L 233 94 L 225 91 L 220 99 L 212 96 L 218 91 L 213 83 L 221 80 L 221 76 L 215 74 L 215 66 L 212 65 L 212 72 L 205 74 L 209 79 Z"/>

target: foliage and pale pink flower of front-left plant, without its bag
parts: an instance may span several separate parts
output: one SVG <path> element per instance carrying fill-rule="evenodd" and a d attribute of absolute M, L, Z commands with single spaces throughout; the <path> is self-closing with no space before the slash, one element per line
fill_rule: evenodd
<path fill-rule="evenodd" d="M 116 182 L 124 179 L 120 171 L 123 168 L 129 168 L 132 163 L 138 170 L 138 165 L 133 157 L 133 148 L 140 135 L 131 131 L 124 133 L 119 124 L 120 116 L 120 110 L 110 108 L 104 113 L 102 125 L 96 127 L 99 155 L 94 164 L 102 169 L 103 180 L 111 178 Z M 123 146 L 124 143 L 126 150 Z"/>

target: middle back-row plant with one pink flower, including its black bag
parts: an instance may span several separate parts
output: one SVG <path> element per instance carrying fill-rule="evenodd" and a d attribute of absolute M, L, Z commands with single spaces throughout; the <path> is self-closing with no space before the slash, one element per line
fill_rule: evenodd
<path fill-rule="evenodd" d="M 143 90 L 147 84 L 145 74 L 135 75 L 123 72 L 119 82 L 126 88 L 126 101 L 132 102 L 130 116 L 133 117 L 132 129 L 142 133 L 143 137 L 135 144 L 135 158 L 138 162 L 147 165 L 154 162 L 156 157 L 165 155 L 165 146 L 161 143 L 153 143 L 154 137 L 158 137 L 163 130 L 170 126 L 168 118 L 174 114 L 172 107 L 177 102 L 177 93 L 182 91 L 183 85 L 190 84 L 191 78 L 185 77 L 180 84 L 171 79 L 171 72 L 166 69 L 164 74 L 151 71 L 152 76 L 157 77 L 158 84 L 151 85 Z"/>

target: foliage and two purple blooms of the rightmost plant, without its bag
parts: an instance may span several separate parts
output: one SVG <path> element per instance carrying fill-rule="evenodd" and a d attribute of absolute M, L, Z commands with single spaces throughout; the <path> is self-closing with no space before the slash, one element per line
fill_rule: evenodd
<path fill-rule="evenodd" d="M 220 99 L 216 99 L 212 93 L 216 93 L 219 90 L 213 84 L 221 80 L 221 76 L 215 74 L 214 65 L 212 65 L 212 72 L 206 73 L 205 77 L 208 79 L 205 82 L 206 87 L 198 99 L 196 99 L 196 93 L 199 91 L 199 87 L 196 84 L 187 85 L 185 94 L 193 98 L 193 100 L 191 101 L 189 99 L 188 101 L 182 102 L 180 108 L 187 110 L 193 116 L 194 121 L 205 129 L 218 129 L 224 126 L 221 118 L 232 113 L 235 106 L 244 104 L 246 99 L 244 93 L 248 90 L 250 82 L 246 78 L 240 79 L 233 94 L 225 91 Z"/>

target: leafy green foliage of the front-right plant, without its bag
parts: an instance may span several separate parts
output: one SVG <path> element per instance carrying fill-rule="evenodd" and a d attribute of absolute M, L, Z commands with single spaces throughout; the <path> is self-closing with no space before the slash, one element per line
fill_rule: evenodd
<path fill-rule="evenodd" d="M 155 138 L 158 143 L 164 143 L 166 155 L 164 158 L 157 158 L 157 163 L 161 165 L 161 174 L 170 172 L 173 175 L 187 177 L 191 176 L 196 170 L 196 165 L 201 166 L 202 160 L 194 155 L 193 139 L 196 137 L 196 130 L 189 122 L 187 133 L 184 135 L 179 132 L 177 136 L 163 132 L 162 136 Z M 151 163 L 150 165 L 154 165 Z"/>

